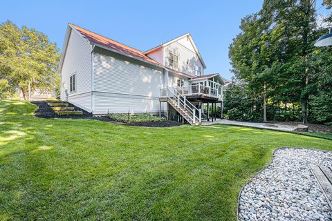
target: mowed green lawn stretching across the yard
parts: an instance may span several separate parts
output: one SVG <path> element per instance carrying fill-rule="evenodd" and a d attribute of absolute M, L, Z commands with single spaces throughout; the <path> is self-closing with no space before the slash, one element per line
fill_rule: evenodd
<path fill-rule="evenodd" d="M 332 141 L 237 126 L 41 119 L 0 101 L 0 220 L 236 220 L 275 148 Z"/>

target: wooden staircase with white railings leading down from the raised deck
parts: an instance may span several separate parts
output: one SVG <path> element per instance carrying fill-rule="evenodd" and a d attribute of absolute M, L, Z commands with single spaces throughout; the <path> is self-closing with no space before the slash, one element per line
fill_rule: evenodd
<path fill-rule="evenodd" d="M 189 124 L 201 125 L 201 110 L 190 103 L 174 88 L 167 88 L 167 103 L 170 104 Z M 199 115 L 196 116 L 196 113 Z"/>

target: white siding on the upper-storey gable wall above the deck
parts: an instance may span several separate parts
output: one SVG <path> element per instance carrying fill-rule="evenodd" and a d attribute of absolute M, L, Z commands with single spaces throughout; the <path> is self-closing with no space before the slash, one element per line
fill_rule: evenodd
<path fill-rule="evenodd" d="M 164 65 L 172 69 L 174 68 L 169 66 L 169 52 L 178 55 L 178 68 L 176 70 L 189 75 L 195 75 L 195 66 L 199 66 L 202 70 L 201 75 L 203 75 L 203 64 L 201 63 L 201 60 L 196 52 L 178 43 L 178 41 L 165 46 L 165 48 L 163 48 Z M 187 64 L 187 61 L 189 64 Z"/>

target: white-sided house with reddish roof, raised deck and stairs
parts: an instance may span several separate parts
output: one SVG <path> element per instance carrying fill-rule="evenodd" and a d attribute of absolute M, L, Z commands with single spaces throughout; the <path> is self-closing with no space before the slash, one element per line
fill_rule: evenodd
<path fill-rule="evenodd" d="M 224 79 L 205 68 L 190 34 L 142 52 L 70 23 L 61 99 L 93 115 L 158 113 L 197 124 L 203 104 L 223 99 Z"/>

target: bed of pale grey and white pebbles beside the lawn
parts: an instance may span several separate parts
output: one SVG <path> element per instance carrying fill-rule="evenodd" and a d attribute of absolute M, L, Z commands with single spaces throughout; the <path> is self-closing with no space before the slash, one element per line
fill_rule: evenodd
<path fill-rule="evenodd" d="M 309 163 L 332 167 L 332 152 L 275 151 L 273 162 L 243 187 L 239 220 L 332 220 Z"/>

